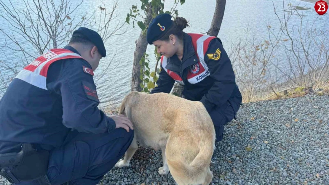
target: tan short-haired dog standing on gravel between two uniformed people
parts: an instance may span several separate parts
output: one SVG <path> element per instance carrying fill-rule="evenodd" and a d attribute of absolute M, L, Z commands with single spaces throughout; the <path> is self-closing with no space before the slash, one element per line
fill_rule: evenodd
<path fill-rule="evenodd" d="M 208 185 L 212 181 L 209 166 L 215 150 L 215 128 L 201 102 L 135 91 L 123 99 L 119 114 L 132 121 L 135 136 L 116 167 L 129 166 L 139 142 L 162 150 L 164 166 L 159 173 L 170 171 L 178 185 Z"/>

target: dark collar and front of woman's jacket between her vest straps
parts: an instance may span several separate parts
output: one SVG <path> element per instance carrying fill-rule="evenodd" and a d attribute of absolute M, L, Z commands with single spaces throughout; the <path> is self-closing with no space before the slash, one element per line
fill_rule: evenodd
<path fill-rule="evenodd" d="M 167 69 L 175 72 L 180 72 L 181 76 L 185 68 L 195 64 L 198 61 L 198 58 L 195 55 L 195 51 L 192 45 L 192 38 L 189 34 L 184 33 L 183 43 L 184 50 L 182 62 L 178 59 L 177 55 L 170 57 L 167 62 Z"/>

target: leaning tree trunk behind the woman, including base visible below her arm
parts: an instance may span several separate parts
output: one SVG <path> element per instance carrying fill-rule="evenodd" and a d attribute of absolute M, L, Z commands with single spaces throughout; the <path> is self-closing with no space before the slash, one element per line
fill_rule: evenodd
<path fill-rule="evenodd" d="M 224 17 L 225 4 L 226 4 L 226 0 L 216 0 L 215 13 L 210 25 L 210 29 L 207 32 L 207 35 L 211 35 L 211 36 L 218 35 Z M 184 86 L 180 84 L 175 84 L 172 94 L 175 93 L 175 95 L 182 97 L 183 90 L 184 90 Z"/>

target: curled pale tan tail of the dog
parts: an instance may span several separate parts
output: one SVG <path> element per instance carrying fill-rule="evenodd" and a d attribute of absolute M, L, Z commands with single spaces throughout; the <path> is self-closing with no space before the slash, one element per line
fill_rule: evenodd
<path fill-rule="evenodd" d="M 215 150 L 215 140 L 212 137 L 206 137 L 204 139 L 205 141 L 200 144 L 199 153 L 190 164 L 182 160 L 171 161 L 167 159 L 168 165 L 172 166 L 177 173 L 180 173 L 179 176 L 190 178 L 191 182 L 202 181 L 203 179 L 199 179 L 198 177 L 209 173 L 211 158 Z"/>

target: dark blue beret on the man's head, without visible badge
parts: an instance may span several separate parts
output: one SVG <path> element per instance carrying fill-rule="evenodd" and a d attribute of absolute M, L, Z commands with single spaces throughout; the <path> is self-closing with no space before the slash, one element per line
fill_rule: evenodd
<path fill-rule="evenodd" d="M 98 52 L 102 55 L 102 57 L 106 56 L 106 50 L 105 50 L 103 39 L 97 32 L 85 27 L 81 27 L 73 32 L 72 37 L 73 36 L 80 36 L 85 39 L 88 39 L 90 42 L 95 44 L 95 46 L 98 49 Z"/>

